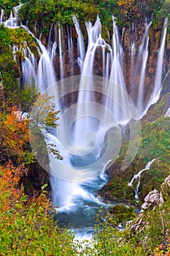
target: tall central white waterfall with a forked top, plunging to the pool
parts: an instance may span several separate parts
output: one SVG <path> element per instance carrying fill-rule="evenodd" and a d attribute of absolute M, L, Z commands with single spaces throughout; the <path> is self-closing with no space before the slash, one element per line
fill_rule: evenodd
<path fill-rule="evenodd" d="M 82 77 L 80 79 L 80 88 L 77 100 L 77 103 L 80 105 L 80 107 L 77 108 L 77 122 L 75 124 L 74 132 L 74 134 L 76 135 L 74 143 L 78 146 L 83 146 L 84 135 L 86 134 L 86 132 L 98 132 L 99 129 L 96 121 L 93 120 L 92 125 L 91 118 L 87 117 L 86 119 L 84 118 L 84 120 L 82 121 L 79 119 L 81 116 L 89 116 L 92 109 L 93 113 L 96 113 L 96 105 L 93 104 L 93 64 L 96 50 L 98 48 L 102 49 L 104 59 L 106 56 L 105 50 L 109 49 L 110 51 L 112 51 L 112 49 L 109 47 L 109 45 L 107 45 L 104 39 L 101 38 L 101 23 L 99 18 L 96 19 L 96 23 L 94 23 L 93 26 L 90 21 L 85 23 L 85 26 L 88 31 L 88 49 L 82 67 Z M 103 65 L 105 64 L 104 59 Z M 84 102 L 84 104 L 82 104 L 82 102 Z M 90 143 L 92 143 L 95 140 L 95 138 L 91 138 L 89 141 Z"/>

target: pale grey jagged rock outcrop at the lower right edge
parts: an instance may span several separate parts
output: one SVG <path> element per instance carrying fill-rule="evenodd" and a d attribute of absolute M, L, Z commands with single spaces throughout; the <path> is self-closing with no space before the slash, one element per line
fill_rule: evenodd
<path fill-rule="evenodd" d="M 167 193 L 170 193 L 170 176 L 168 176 L 163 182 L 161 192 L 154 189 L 144 198 L 144 203 L 142 204 L 142 210 L 140 211 L 139 216 L 134 222 L 128 223 L 131 232 L 136 233 L 147 225 L 146 216 L 148 217 L 150 211 L 154 211 L 156 207 L 163 205 L 164 197 L 166 197 Z"/>

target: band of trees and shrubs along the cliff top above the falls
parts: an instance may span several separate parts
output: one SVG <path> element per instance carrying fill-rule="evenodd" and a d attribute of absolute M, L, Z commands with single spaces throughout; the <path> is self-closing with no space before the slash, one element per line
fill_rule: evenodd
<path fill-rule="evenodd" d="M 22 6 L 19 10 L 19 17 L 29 26 L 39 26 L 42 33 L 47 33 L 50 30 L 51 23 L 59 21 L 62 24 L 72 22 L 72 16 L 75 15 L 80 23 L 85 20 L 90 20 L 92 23 L 99 15 L 104 29 L 112 29 L 112 15 L 117 18 L 117 25 L 120 27 L 131 26 L 136 18 L 144 18 L 147 16 L 151 19 L 155 26 L 163 24 L 165 17 L 169 17 L 169 0 L 84 0 L 84 1 L 45 1 L 45 0 L 22 0 Z M 9 15 L 12 7 L 19 4 L 19 1 L 4 1 L 0 2 L 0 8 Z"/>

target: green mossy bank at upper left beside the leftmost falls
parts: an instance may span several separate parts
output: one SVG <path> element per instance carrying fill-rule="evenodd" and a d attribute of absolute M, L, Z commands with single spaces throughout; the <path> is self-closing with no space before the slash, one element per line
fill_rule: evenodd
<path fill-rule="evenodd" d="M 25 29 L 8 29 L 3 25 L 0 26 L 0 69 L 3 83 L 4 94 L 6 95 L 10 105 L 16 105 L 22 101 L 18 94 L 20 86 L 18 78 L 21 76 L 20 60 L 23 58 L 22 52 L 18 50 L 16 61 L 12 53 L 12 47 L 15 45 L 20 48 L 26 47 L 24 41 L 28 43 L 32 50 L 35 49 L 36 42 Z"/>

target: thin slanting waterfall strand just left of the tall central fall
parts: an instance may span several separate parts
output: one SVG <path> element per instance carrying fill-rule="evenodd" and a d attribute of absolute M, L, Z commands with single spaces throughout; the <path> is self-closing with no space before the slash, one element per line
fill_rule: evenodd
<path fill-rule="evenodd" d="M 84 39 L 82 37 L 82 32 L 80 30 L 80 25 L 77 21 L 76 16 L 73 16 L 73 22 L 74 26 L 76 28 L 78 39 L 77 39 L 77 61 L 80 66 L 80 71 L 82 71 L 83 61 L 85 59 L 85 45 L 84 45 Z"/>

